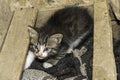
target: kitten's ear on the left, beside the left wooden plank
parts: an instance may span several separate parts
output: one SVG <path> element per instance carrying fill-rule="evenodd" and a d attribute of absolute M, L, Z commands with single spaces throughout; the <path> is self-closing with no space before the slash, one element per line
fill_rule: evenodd
<path fill-rule="evenodd" d="M 28 27 L 28 32 L 29 32 L 29 36 L 30 36 L 30 42 L 31 43 L 36 43 L 38 40 L 38 33 L 35 29 L 33 29 L 32 27 Z"/>

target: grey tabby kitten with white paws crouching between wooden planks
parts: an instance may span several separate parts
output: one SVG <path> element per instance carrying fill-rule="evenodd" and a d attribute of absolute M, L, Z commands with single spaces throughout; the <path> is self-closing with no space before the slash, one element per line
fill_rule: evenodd
<path fill-rule="evenodd" d="M 30 50 L 35 55 L 31 60 L 33 61 L 35 57 L 40 60 L 48 59 L 43 66 L 52 67 L 66 53 L 71 53 L 78 44 L 84 42 L 92 32 L 93 19 L 85 8 L 60 9 L 41 28 L 29 27 Z"/>

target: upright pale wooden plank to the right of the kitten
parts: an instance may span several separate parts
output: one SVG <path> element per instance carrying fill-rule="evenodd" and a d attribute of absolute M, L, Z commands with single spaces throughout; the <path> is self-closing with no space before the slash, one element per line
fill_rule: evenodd
<path fill-rule="evenodd" d="M 111 28 L 106 0 L 95 0 L 93 80 L 117 80 Z"/>

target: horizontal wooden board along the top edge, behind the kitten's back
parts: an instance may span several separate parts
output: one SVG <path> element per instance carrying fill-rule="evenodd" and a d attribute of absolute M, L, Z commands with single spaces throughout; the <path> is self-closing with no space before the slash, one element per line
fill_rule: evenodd
<path fill-rule="evenodd" d="M 91 5 L 93 0 L 19 0 L 21 5 L 30 4 L 39 11 L 57 10 L 69 5 Z"/>

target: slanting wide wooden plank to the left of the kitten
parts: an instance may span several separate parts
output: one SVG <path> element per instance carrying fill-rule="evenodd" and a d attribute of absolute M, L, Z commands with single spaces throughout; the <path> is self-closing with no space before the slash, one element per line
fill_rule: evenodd
<path fill-rule="evenodd" d="M 27 26 L 33 26 L 37 11 L 23 9 L 15 12 L 0 53 L 0 80 L 19 80 L 29 44 Z"/>

